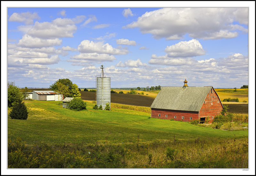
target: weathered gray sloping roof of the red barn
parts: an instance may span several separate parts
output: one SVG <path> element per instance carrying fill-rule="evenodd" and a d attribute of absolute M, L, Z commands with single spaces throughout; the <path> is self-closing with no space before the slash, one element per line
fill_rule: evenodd
<path fill-rule="evenodd" d="M 161 87 L 150 108 L 199 112 L 209 87 Z"/>

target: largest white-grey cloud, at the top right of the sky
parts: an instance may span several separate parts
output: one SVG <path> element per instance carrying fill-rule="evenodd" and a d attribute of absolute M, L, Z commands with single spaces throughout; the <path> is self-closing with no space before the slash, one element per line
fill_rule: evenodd
<path fill-rule="evenodd" d="M 237 32 L 231 32 L 235 21 L 248 25 L 248 9 L 162 8 L 144 13 L 123 28 L 140 28 L 143 34 L 152 34 L 156 39 L 177 40 L 185 34 L 202 39 L 220 39 L 237 36 Z M 244 30 L 244 27 L 237 29 Z"/>

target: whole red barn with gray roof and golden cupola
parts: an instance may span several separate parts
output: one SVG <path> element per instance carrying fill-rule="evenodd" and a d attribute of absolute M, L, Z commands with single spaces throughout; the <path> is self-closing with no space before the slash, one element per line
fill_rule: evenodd
<path fill-rule="evenodd" d="M 151 105 L 151 118 L 174 119 L 189 122 L 206 117 L 210 122 L 219 115 L 223 105 L 212 86 L 188 87 L 187 80 L 183 87 L 161 87 Z"/>

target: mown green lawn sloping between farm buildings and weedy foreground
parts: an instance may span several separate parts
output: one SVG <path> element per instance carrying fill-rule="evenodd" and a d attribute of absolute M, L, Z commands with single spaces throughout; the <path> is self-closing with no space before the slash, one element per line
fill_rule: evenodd
<path fill-rule="evenodd" d="M 47 143 L 129 143 L 175 139 L 248 138 L 246 131 L 223 131 L 187 122 L 149 118 L 150 114 L 126 109 L 72 111 L 56 101 L 28 101 L 27 120 L 8 116 L 8 138 L 20 137 L 27 144 Z M 10 111 L 10 110 L 9 110 Z"/>

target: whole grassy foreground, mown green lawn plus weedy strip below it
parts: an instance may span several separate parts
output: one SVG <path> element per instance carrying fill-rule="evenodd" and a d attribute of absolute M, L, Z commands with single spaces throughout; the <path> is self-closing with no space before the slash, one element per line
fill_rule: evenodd
<path fill-rule="evenodd" d="M 8 116 L 8 168 L 248 168 L 248 130 L 220 130 L 111 107 L 26 101 Z M 8 109 L 11 111 L 11 108 Z M 248 126 L 248 123 L 242 123 Z"/>

